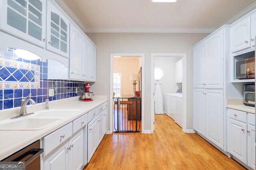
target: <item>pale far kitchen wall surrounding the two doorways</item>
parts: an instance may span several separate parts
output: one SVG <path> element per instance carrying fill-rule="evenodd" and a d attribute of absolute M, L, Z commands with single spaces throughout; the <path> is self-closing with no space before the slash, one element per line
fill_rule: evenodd
<path fill-rule="evenodd" d="M 193 45 L 208 33 L 86 33 L 97 45 L 96 76 L 92 85 L 96 95 L 110 94 L 110 53 L 144 53 L 145 119 L 144 130 L 151 130 L 151 53 L 187 55 L 187 128 L 193 128 Z M 110 100 L 110 99 L 109 99 Z M 108 125 L 109 129 L 109 125 Z"/>

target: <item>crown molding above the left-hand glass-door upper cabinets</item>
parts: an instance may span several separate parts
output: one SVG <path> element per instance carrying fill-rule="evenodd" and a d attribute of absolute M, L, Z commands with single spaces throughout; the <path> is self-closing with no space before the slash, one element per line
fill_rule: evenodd
<path fill-rule="evenodd" d="M 73 20 L 82 31 L 86 31 L 86 27 L 84 24 L 77 18 L 77 16 L 72 12 L 72 10 L 67 6 L 67 4 L 63 0 L 55 0 L 55 2 L 66 12 L 66 14 Z"/>

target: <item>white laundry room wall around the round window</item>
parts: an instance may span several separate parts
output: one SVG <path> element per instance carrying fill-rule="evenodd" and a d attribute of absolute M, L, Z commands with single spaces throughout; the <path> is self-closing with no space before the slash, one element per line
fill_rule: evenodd
<path fill-rule="evenodd" d="M 181 59 L 182 57 L 154 57 L 155 67 L 161 67 L 164 70 L 164 77 L 154 81 L 161 83 L 163 111 L 166 111 L 164 110 L 164 93 L 176 93 L 178 89 L 182 89 L 182 83 L 175 82 L 175 63 Z"/>

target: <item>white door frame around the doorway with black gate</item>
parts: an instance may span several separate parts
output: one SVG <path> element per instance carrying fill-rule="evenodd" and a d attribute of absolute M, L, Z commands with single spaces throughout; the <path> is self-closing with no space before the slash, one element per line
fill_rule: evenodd
<path fill-rule="evenodd" d="M 110 134 L 113 133 L 113 62 L 114 62 L 114 56 L 123 56 L 123 57 L 138 57 L 141 56 L 141 69 L 142 69 L 142 79 L 141 79 L 141 132 L 144 132 L 144 82 L 145 82 L 145 76 L 144 76 L 144 53 L 110 53 Z"/>

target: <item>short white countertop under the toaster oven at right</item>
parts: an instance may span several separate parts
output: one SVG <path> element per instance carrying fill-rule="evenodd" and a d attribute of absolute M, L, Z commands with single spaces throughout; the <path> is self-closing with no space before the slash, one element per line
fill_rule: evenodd
<path fill-rule="evenodd" d="M 255 114 L 255 107 L 245 106 L 243 103 L 243 99 L 227 99 L 226 104 L 227 104 L 226 107 L 230 109 L 236 109 L 236 110 Z"/>

